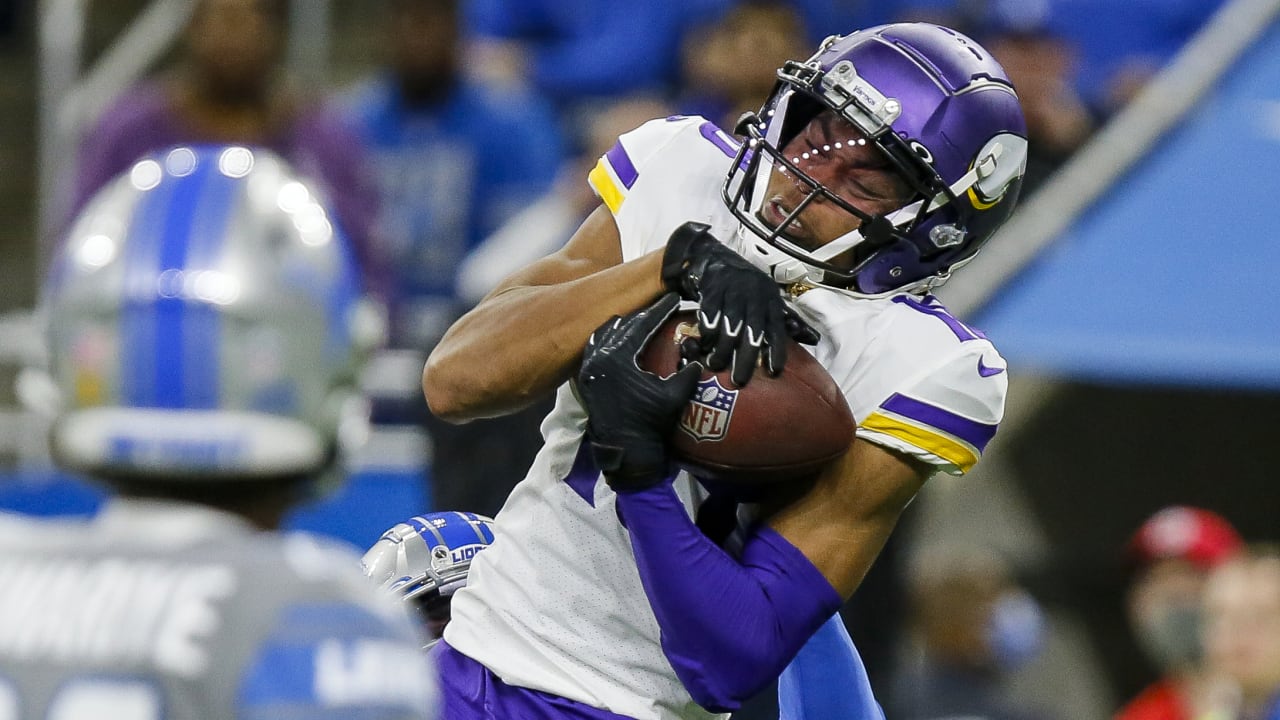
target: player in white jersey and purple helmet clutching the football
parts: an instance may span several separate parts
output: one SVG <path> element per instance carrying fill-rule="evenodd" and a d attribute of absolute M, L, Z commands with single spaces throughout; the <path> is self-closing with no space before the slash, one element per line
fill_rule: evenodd
<path fill-rule="evenodd" d="M 924 480 L 968 471 L 1000 424 L 1004 360 L 929 290 L 1018 197 L 1025 124 L 1002 68 L 947 28 L 869 28 L 785 64 L 739 132 L 675 117 L 623 135 L 589 178 L 602 208 L 428 360 L 426 398 L 456 421 L 558 387 L 435 648 L 449 717 L 723 716 L 835 615 Z M 785 372 L 790 334 L 845 392 L 856 438 L 800 497 L 736 515 L 668 471 L 691 378 L 631 354 L 675 295 L 739 384 L 758 359 Z M 727 541 L 700 529 L 716 515 L 741 518 Z"/>

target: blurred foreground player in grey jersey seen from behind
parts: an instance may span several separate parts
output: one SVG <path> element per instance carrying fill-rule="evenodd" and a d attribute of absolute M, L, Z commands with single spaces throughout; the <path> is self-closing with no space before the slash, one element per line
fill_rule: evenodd
<path fill-rule="evenodd" d="M 367 414 L 380 324 L 330 218 L 274 154 L 202 146 L 138 160 L 74 222 L 24 387 L 59 465 L 113 497 L 0 516 L 0 717 L 436 716 L 403 606 L 348 547 L 278 532 Z"/>

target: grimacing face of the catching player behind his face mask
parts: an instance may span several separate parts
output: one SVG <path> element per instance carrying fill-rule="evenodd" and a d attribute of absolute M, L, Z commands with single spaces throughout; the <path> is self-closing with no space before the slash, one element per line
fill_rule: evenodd
<path fill-rule="evenodd" d="M 809 178 L 868 215 L 883 215 L 910 199 L 909 186 L 888 159 L 852 124 L 829 110 L 810 120 L 782 147 L 782 154 Z M 792 172 L 776 165 L 759 211 L 760 220 L 771 228 L 780 227 L 812 190 Z M 810 202 L 797 220 L 790 223 L 783 234 L 805 250 L 817 250 L 861 224 L 856 215 L 822 196 Z M 851 265 L 852 254 L 845 255 L 844 264 Z M 842 259 L 835 263 L 841 264 Z"/>

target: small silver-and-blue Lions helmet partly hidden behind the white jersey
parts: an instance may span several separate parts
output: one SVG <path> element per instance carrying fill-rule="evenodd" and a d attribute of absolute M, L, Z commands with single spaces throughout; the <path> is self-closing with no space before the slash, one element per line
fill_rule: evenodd
<path fill-rule="evenodd" d="M 412 603 L 438 639 L 449 621 L 453 593 L 467 584 L 471 559 L 493 538 L 493 520 L 484 515 L 419 515 L 383 533 L 361 568 L 379 587 Z"/>

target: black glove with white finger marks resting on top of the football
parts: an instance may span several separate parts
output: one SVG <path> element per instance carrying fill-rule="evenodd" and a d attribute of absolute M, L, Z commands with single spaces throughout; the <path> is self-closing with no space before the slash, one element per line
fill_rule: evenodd
<path fill-rule="evenodd" d="M 685 223 L 667 240 L 662 282 L 685 300 L 698 301 L 698 332 L 709 352 L 707 366 L 733 364 L 732 378 L 746 384 L 764 354 L 771 375 L 787 361 L 787 336 L 815 345 L 818 331 L 787 307 L 782 291 L 745 258 L 726 247 L 703 223 Z"/>

